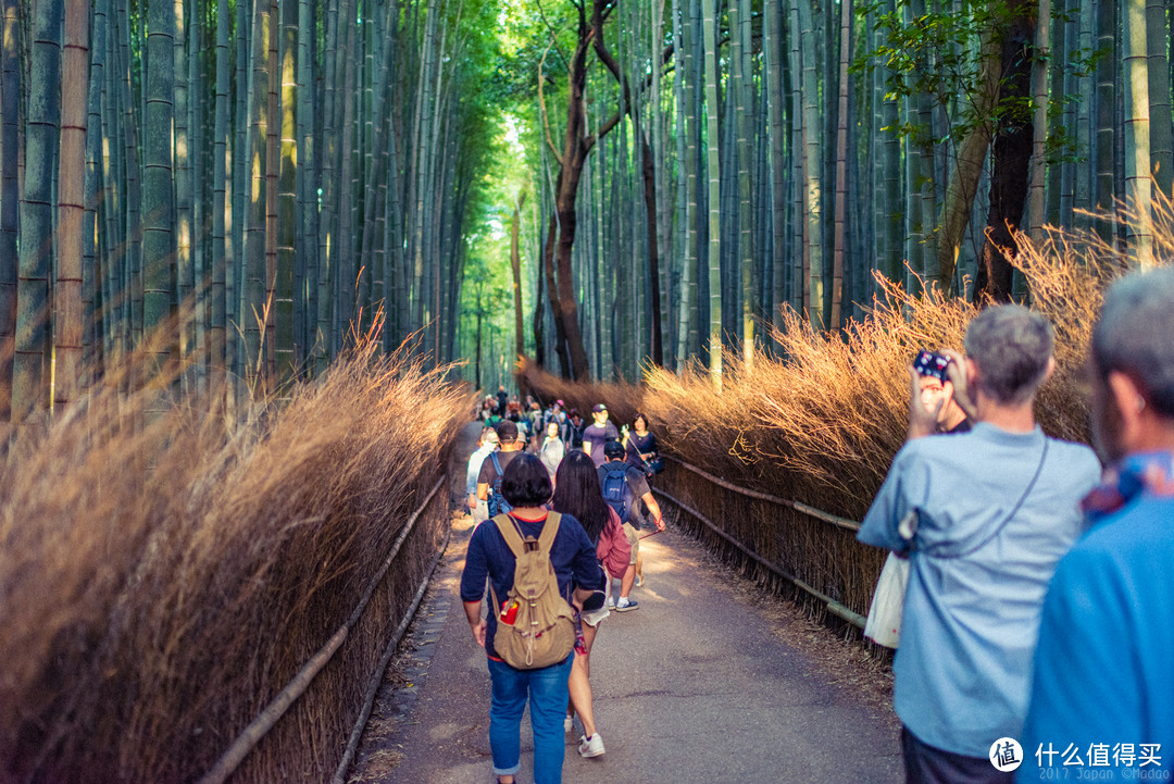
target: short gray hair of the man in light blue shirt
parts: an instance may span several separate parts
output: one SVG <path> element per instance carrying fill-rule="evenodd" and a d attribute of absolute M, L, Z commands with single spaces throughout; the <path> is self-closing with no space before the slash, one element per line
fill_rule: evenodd
<path fill-rule="evenodd" d="M 978 364 L 978 386 L 1003 405 L 1031 400 L 1047 377 L 1054 345 L 1052 325 L 1023 305 L 989 307 L 966 327 L 966 354 Z"/>

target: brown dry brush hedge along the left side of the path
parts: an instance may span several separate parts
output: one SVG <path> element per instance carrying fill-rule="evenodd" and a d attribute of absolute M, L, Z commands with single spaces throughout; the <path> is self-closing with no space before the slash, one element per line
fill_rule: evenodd
<path fill-rule="evenodd" d="M 0 477 L 0 780 L 202 775 L 346 621 L 470 407 L 370 347 L 241 426 L 211 403 L 227 390 L 160 406 L 122 380 L 23 434 Z M 236 780 L 333 771 L 445 507 Z"/>

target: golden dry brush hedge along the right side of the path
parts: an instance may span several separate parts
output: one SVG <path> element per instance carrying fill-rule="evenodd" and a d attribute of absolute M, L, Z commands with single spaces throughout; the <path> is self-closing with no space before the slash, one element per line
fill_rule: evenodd
<path fill-rule="evenodd" d="M 1155 225 L 1155 254 L 1174 257 L 1168 200 L 1159 205 Z M 1048 434 L 1087 441 L 1088 333 L 1101 291 L 1124 269 L 1124 256 L 1092 232 L 1052 230 L 1038 248 L 1017 239 L 1031 304 L 1057 331 L 1057 373 L 1039 396 L 1039 421 Z M 721 394 L 697 367 L 680 377 L 650 367 L 640 386 L 576 385 L 528 364 L 520 373 L 544 398 L 562 398 L 580 411 L 605 401 L 622 421 L 646 411 L 670 454 L 742 487 L 859 520 L 905 440 L 909 363 L 920 347 L 960 349 L 978 312 L 936 289 L 913 296 L 884 278 L 878 283 L 868 318 L 843 333 L 818 333 L 790 312 L 775 334 L 783 358 L 758 354 L 748 366 L 727 352 Z M 657 482 L 724 521 L 761 555 L 857 613 L 868 611 L 883 557 L 849 532 L 714 487 L 672 462 Z M 681 518 L 687 522 L 688 515 Z"/>

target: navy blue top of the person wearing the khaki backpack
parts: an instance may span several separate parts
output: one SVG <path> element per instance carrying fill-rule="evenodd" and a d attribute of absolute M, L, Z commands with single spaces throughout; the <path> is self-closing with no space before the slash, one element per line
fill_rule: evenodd
<path fill-rule="evenodd" d="M 511 515 L 512 516 L 512 515 Z M 546 518 L 529 522 L 518 521 L 522 538 L 533 536 L 538 539 L 546 525 Z M 485 581 L 488 579 L 497 593 L 498 601 L 506 601 L 510 589 L 513 588 L 513 570 L 515 563 L 514 554 L 506 545 L 506 540 L 498 530 L 498 526 L 492 519 L 477 526 L 473 536 L 468 541 L 468 553 L 465 556 L 465 570 L 460 575 L 460 600 L 464 602 L 479 602 L 488 593 L 485 589 Z M 569 514 L 564 514 L 559 522 L 559 533 L 551 545 L 551 566 L 554 567 L 554 576 L 559 581 L 559 593 L 567 601 L 571 601 L 572 586 L 587 588 L 589 590 L 603 590 L 603 572 L 595 557 L 595 546 L 587 538 L 582 523 Z M 490 601 L 492 604 L 492 600 Z M 486 617 L 485 653 L 494 658 L 498 657 L 493 649 L 493 635 L 498 630 L 498 613 L 501 607 L 491 607 Z"/>

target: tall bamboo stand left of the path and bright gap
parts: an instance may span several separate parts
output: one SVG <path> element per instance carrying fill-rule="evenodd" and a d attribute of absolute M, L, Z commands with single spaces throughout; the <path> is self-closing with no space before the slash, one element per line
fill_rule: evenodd
<path fill-rule="evenodd" d="M 5 0 L 5 417 L 128 352 L 184 392 L 271 391 L 359 337 L 448 360 L 492 11 Z"/>

